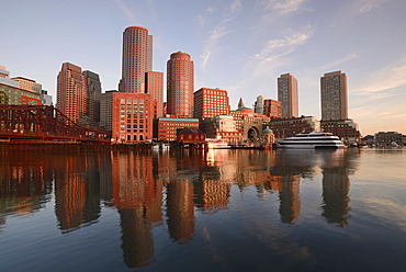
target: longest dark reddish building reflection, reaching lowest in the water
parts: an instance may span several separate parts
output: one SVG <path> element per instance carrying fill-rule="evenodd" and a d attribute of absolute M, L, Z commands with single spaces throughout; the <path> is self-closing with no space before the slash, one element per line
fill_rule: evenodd
<path fill-rule="evenodd" d="M 155 179 L 153 158 L 133 151 L 112 154 L 112 205 L 119 209 L 124 262 L 148 264 L 154 257 L 153 224 L 162 220 L 162 183 Z"/>

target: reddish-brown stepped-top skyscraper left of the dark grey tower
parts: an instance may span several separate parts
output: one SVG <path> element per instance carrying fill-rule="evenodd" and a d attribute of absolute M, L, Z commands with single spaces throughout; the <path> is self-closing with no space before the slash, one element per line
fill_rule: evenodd
<path fill-rule="evenodd" d="M 63 64 L 58 73 L 56 106 L 74 122 L 87 113 L 86 79 L 79 66 Z"/>

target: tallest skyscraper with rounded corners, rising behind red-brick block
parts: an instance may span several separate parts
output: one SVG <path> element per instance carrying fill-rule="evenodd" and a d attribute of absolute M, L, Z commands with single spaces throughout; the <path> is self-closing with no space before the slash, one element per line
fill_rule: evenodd
<path fill-rule="evenodd" d="M 145 93 L 145 72 L 153 69 L 153 36 L 140 26 L 123 33 L 123 66 L 120 91 Z"/>

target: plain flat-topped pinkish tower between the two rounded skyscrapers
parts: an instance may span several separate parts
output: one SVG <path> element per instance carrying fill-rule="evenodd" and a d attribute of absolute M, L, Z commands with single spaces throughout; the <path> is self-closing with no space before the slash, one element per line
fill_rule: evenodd
<path fill-rule="evenodd" d="M 163 72 L 146 72 L 146 93 L 149 93 L 157 102 L 155 117 L 163 116 Z"/>

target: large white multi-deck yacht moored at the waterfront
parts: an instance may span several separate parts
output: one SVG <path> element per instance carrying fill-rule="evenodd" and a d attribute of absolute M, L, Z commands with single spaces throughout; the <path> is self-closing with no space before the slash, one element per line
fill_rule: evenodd
<path fill-rule="evenodd" d="M 345 148 L 338 136 L 331 133 L 300 133 L 283 140 L 277 140 L 282 148 L 318 149 L 318 148 Z"/>

